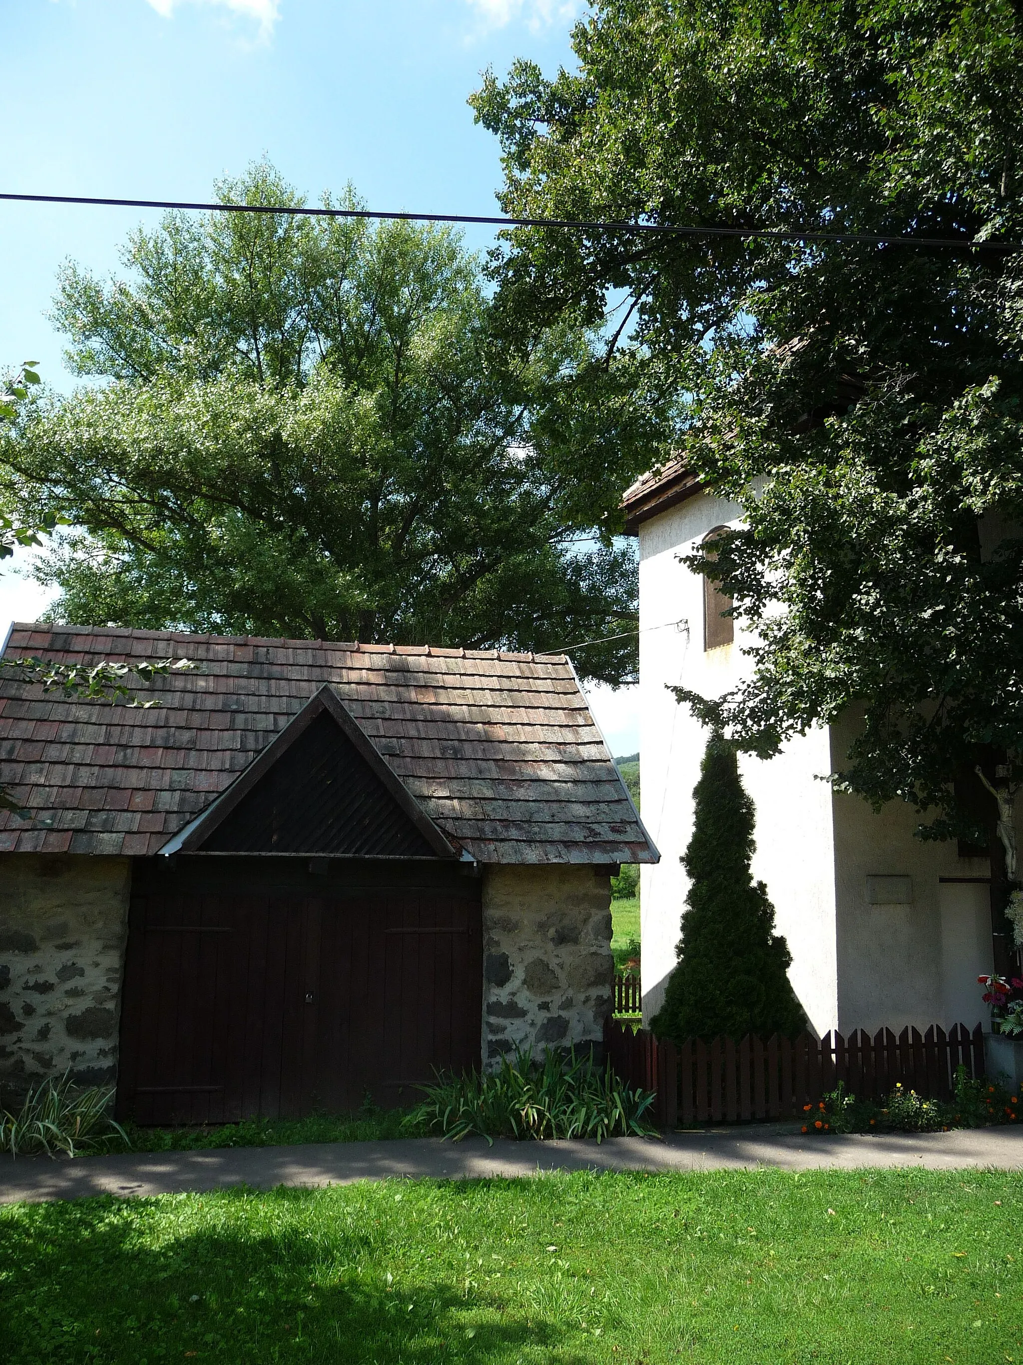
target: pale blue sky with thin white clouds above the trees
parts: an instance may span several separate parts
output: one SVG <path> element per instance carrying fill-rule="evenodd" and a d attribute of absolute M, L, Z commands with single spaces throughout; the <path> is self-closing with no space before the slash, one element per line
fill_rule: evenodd
<path fill-rule="evenodd" d="M 0 188 L 207 199 L 261 156 L 311 198 L 351 180 L 372 207 L 496 212 L 498 147 L 465 100 L 516 56 L 572 63 L 577 0 L 34 0 L 0 26 Z M 61 261 L 98 273 L 157 213 L 0 203 L 0 366 L 71 377 L 45 314 Z M 486 229 L 466 235 L 486 247 Z M 8 561 L 10 562 L 10 561 Z M 0 577 L 0 629 L 44 598 Z M 597 689 L 632 752 L 627 689 Z"/>

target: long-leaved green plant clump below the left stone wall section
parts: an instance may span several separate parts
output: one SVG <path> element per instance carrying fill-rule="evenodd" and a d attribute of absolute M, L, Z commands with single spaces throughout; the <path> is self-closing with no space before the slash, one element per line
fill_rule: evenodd
<path fill-rule="evenodd" d="M 68 1072 L 60 1080 L 29 1089 L 16 1111 L 0 1108 L 0 1151 L 11 1156 L 85 1156 L 130 1147 L 128 1136 L 110 1117 L 113 1088 L 75 1085 Z"/>

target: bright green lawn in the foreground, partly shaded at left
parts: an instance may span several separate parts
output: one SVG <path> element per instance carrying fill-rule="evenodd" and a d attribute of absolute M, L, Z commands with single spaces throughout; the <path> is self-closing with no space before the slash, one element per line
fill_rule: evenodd
<path fill-rule="evenodd" d="M 720 1171 L 0 1209 L 5 1365 L 994 1365 L 1023 1177 Z"/>

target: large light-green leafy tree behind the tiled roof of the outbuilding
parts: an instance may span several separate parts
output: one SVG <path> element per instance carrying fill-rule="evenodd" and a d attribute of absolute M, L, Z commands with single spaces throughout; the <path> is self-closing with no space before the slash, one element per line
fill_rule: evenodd
<path fill-rule="evenodd" d="M 265 164 L 218 192 L 300 202 Z M 634 672 L 634 557 L 604 521 L 651 415 L 632 392 L 587 401 L 585 326 L 513 347 L 458 236 L 408 222 L 169 214 L 124 261 L 109 284 L 68 265 L 55 304 L 70 363 L 105 382 L 27 405 L 0 444 L 19 515 L 82 528 L 44 569 L 60 618 L 521 650 L 625 635 L 584 669 Z"/>

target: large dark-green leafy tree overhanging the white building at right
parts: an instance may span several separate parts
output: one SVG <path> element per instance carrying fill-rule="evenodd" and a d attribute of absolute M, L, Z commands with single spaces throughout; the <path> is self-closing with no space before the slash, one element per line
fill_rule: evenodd
<path fill-rule="evenodd" d="M 686 393 L 687 460 L 742 504 L 690 564 L 758 635 L 752 676 L 679 698 L 762 756 L 858 717 L 833 779 L 986 842 L 1004 973 L 1012 822 L 988 786 L 1011 808 L 1023 777 L 1023 14 L 596 0 L 573 42 L 578 72 L 518 63 L 475 98 L 507 212 L 773 233 L 520 229 L 495 265 L 533 326 L 625 295 L 627 344 Z"/>

